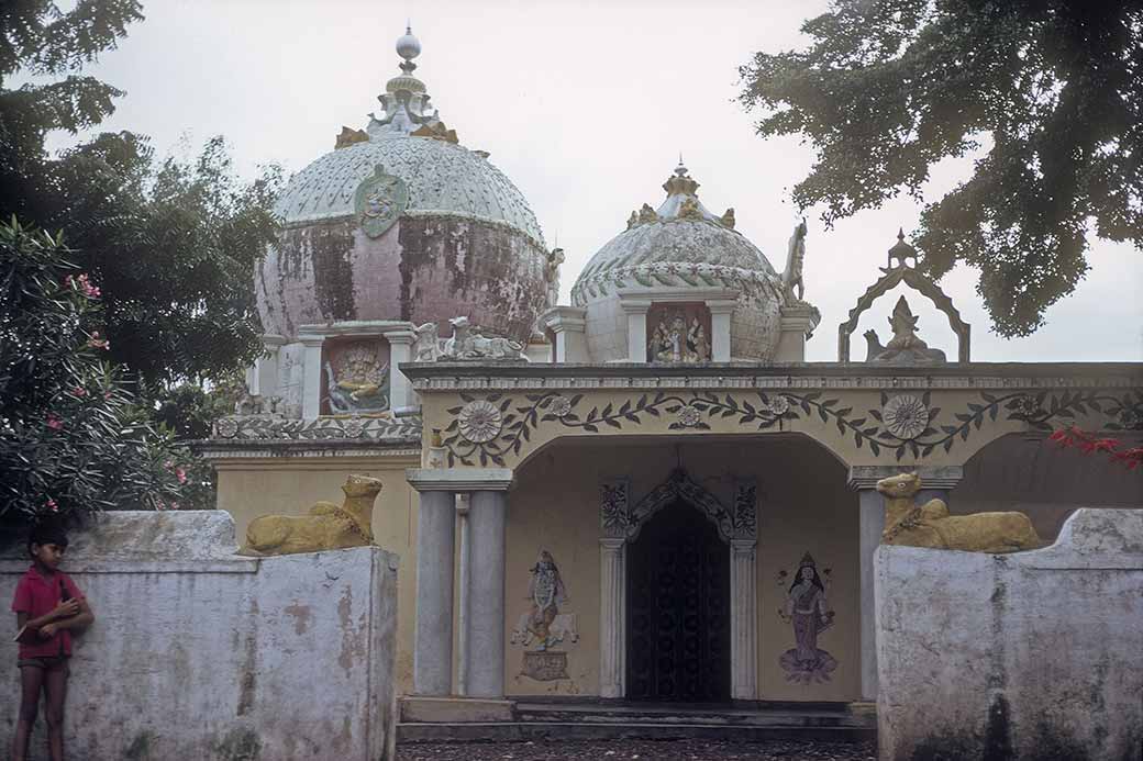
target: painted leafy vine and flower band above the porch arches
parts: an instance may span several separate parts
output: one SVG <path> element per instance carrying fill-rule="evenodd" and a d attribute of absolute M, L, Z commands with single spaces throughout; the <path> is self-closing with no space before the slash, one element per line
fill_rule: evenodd
<path fill-rule="evenodd" d="M 465 403 L 447 410 L 454 419 L 445 428 L 443 446 L 448 450 L 449 466 L 456 463 L 473 466 L 478 462 L 481 466 L 489 463 L 503 466 L 504 457 L 519 455 L 542 424 L 555 423 L 565 428 L 599 433 L 604 426 L 622 430 L 630 424 L 642 425 L 645 416 L 660 417 L 663 412 L 674 416 L 674 422 L 668 425 L 672 431 L 710 431 L 706 420 L 727 417 L 737 417 L 738 425 L 758 431 L 784 430 L 791 423 L 817 416 L 822 423 L 833 423 L 841 435 L 853 436 L 858 449 L 868 444 L 874 455 L 880 456 L 884 449 L 898 460 L 906 454 L 914 458 L 928 457 L 937 447 L 950 451 L 958 440 L 967 441 L 985 419 L 996 422 L 1001 412 L 1007 420 L 1020 420 L 1047 433 L 1052 432 L 1055 422 L 1092 412 L 1109 418 L 1104 424 L 1106 430 L 1143 430 L 1143 391 L 1138 390 L 1122 396 L 1101 390 L 1052 394 L 1015 391 L 1001 395 L 982 391 L 980 401 L 968 402 L 962 411 L 953 412 L 948 423 L 942 423 L 942 410 L 932 407 L 927 391 L 919 400 L 914 394 L 881 392 L 881 409 L 869 409 L 864 414 L 855 414 L 852 407 L 841 407 L 839 399 L 823 399 L 823 395 L 821 391 L 777 394 L 756 391 L 742 396 L 719 396 L 709 391 L 693 391 L 685 396 L 660 391 L 628 399 L 618 406 L 608 402 L 602 408 L 583 411 L 580 409 L 583 394 L 570 398 L 554 391 L 525 394 L 525 403 L 519 403 L 517 398 L 503 394 L 477 399 L 462 393 Z M 909 399 L 903 399 L 905 396 Z M 895 399 L 902 401 L 893 403 Z M 910 412 L 904 411 L 906 406 Z M 890 410 L 893 416 L 887 420 Z"/>

